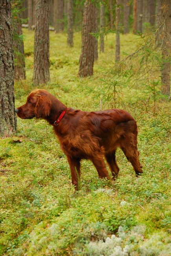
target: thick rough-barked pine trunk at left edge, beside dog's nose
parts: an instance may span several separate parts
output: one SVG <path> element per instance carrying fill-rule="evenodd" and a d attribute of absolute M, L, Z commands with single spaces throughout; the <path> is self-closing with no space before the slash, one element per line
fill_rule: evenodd
<path fill-rule="evenodd" d="M 0 137 L 17 130 L 11 1 L 0 1 Z"/>

